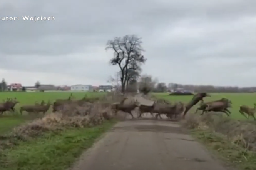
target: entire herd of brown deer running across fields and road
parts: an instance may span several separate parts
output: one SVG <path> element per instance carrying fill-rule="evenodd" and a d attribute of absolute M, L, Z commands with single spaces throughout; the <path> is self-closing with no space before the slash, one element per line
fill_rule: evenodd
<path fill-rule="evenodd" d="M 202 111 L 201 115 L 203 115 L 205 112 L 222 112 L 226 115 L 230 116 L 231 112 L 228 110 L 228 108 L 232 107 L 231 100 L 227 98 L 221 98 L 220 100 L 214 100 L 211 102 L 204 102 L 204 97 L 209 97 L 210 95 L 207 93 L 197 93 L 193 96 L 190 102 L 188 102 L 186 105 L 182 102 L 175 102 L 174 104 L 171 104 L 170 102 L 167 102 L 166 100 L 156 100 L 152 105 L 143 105 L 140 104 L 137 100 L 134 99 L 133 102 L 125 103 L 126 97 L 123 98 L 120 102 L 112 103 L 111 109 L 114 111 L 115 114 L 117 114 L 118 111 L 126 112 L 131 115 L 132 118 L 134 118 L 132 111 L 134 111 L 137 108 L 138 118 L 141 118 L 144 113 L 150 113 L 151 116 L 153 114 L 156 114 L 156 119 L 158 117 L 162 118 L 161 115 L 166 115 L 167 118 L 174 118 L 177 119 L 178 117 L 182 116 L 185 118 L 187 112 L 197 103 L 199 103 L 199 107 L 196 108 L 196 112 Z M 53 104 L 48 101 L 47 103 L 42 100 L 41 103 L 35 102 L 34 105 L 23 105 L 20 107 L 20 114 L 23 112 L 28 113 L 40 113 L 42 112 L 45 114 L 52 105 L 52 111 L 56 112 L 60 109 L 63 109 L 65 105 L 79 105 L 82 106 L 85 103 L 93 103 L 96 100 L 99 100 L 99 98 L 88 98 L 86 95 L 84 98 L 80 100 L 72 100 L 73 95 L 69 96 L 67 99 L 57 99 Z M 0 115 L 3 115 L 6 111 L 15 111 L 15 105 L 19 103 L 17 98 L 7 98 L 7 100 L 4 100 L 3 103 L 0 103 Z M 256 112 L 256 104 L 254 104 L 253 108 L 250 108 L 247 105 L 241 105 L 239 108 L 239 112 L 246 117 L 247 119 L 249 117 L 253 117 L 254 120 L 256 120 L 254 113 Z"/>

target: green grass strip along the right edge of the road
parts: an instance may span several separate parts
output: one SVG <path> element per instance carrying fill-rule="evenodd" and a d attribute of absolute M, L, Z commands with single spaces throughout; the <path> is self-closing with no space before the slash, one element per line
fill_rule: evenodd
<path fill-rule="evenodd" d="M 228 165 L 240 170 L 256 170 L 255 152 L 228 141 L 219 133 L 197 129 L 191 130 L 191 134 Z"/>

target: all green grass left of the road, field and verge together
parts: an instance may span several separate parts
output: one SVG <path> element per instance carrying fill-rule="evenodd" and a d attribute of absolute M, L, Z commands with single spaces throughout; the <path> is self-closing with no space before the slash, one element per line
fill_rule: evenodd
<path fill-rule="evenodd" d="M 46 92 L 46 93 L 24 93 L 7 92 L 0 93 L 0 100 L 7 97 L 16 97 L 20 103 L 15 107 L 19 109 L 21 105 L 34 104 L 35 101 L 68 98 L 70 93 Z M 85 95 L 88 97 L 100 97 L 105 93 L 73 93 L 75 99 L 81 99 Z M 49 111 L 51 112 L 51 111 Z M 42 114 L 41 114 L 42 115 Z M 27 120 L 33 120 L 37 115 L 20 115 L 6 113 L 0 116 L 0 136 L 12 131 L 13 127 L 25 123 Z M 81 117 L 80 117 L 81 118 Z M 63 120 L 63 122 L 67 122 Z M 62 122 L 62 123 L 63 123 Z M 91 147 L 97 138 L 106 132 L 116 123 L 115 120 L 105 121 L 103 124 L 95 127 L 80 127 L 67 125 L 64 130 L 52 128 L 47 132 L 41 133 L 37 137 L 26 138 L 26 140 L 15 140 L 15 145 L 7 147 L 0 141 L 0 169 L 1 170 L 64 170 L 70 167 L 79 155 L 87 148 Z M 54 126 L 51 123 L 44 125 L 38 123 L 38 126 Z M 75 127 L 75 128 L 74 128 Z M 28 128 L 29 129 L 29 128 Z M 29 130 L 26 130 L 29 131 Z M 31 131 L 31 129 L 30 129 Z M 32 130 L 33 131 L 33 130 Z M 40 131 L 40 130 L 39 130 Z M 31 132 L 30 132 L 31 133 Z M 23 135 L 30 134 L 26 132 Z M 38 132 L 39 133 L 39 132 Z M 24 137 L 23 136 L 23 137 Z M 13 139 L 11 139 L 13 140 Z M 7 142 L 8 143 L 8 142 Z M 10 142 L 11 143 L 11 142 Z M 8 143 L 9 144 L 9 143 Z M 56 157 L 57 156 L 57 157 Z"/>

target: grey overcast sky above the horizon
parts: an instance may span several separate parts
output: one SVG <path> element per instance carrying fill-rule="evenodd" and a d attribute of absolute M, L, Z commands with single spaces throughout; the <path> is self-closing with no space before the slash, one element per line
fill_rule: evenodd
<path fill-rule="evenodd" d="M 143 73 L 159 82 L 256 86 L 255 0 L 1 0 L 0 78 L 106 84 L 108 39 L 142 37 Z M 54 17 L 24 21 L 22 16 Z"/>

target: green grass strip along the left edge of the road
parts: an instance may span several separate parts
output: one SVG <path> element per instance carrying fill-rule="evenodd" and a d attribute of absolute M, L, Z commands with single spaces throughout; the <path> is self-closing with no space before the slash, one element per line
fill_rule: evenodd
<path fill-rule="evenodd" d="M 65 170 L 116 121 L 91 128 L 73 128 L 5 149 L 0 153 L 1 170 Z"/>

